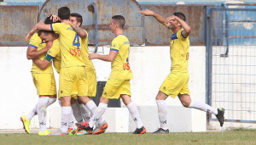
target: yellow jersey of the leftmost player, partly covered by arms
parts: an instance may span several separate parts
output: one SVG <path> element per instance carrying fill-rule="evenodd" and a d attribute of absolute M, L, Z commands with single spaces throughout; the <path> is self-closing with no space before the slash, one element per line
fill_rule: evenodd
<path fill-rule="evenodd" d="M 46 43 L 43 43 L 42 39 L 38 36 L 38 33 L 33 34 L 31 37 L 29 44 L 27 45 L 28 47 L 35 47 L 37 51 L 43 49 L 46 47 Z M 44 60 L 45 53 L 40 55 L 38 59 Z M 53 73 L 52 70 L 52 65 L 48 65 L 48 67 L 45 70 L 41 70 L 37 64 L 33 62 L 32 64 L 32 72 L 37 72 L 37 73 Z"/>

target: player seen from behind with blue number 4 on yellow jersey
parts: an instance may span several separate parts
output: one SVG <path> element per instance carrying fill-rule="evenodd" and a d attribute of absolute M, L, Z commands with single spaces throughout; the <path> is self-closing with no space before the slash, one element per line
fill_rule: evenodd
<path fill-rule="evenodd" d="M 67 135 L 68 121 L 71 115 L 71 95 L 73 95 L 74 87 L 78 87 L 79 101 L 90 109 L 93 114 L 96 104 L 88 98 L 87 83 L 85 78 L 85 63 L 82 58 L 84 46 L 81 45 L 81 37 L 73 30 L 69 23 L 70 10 L 67 7 L 58 9 L 58 16 L 61 23 L 44 25 L 39 22 L 34 26 L 33 30 L 26 36 L 28 38 L 36 30 L 55 31 L 60 35 L 61 43 L 61 71 L 60 71 L 60 89 L 59 97 L 61 98 L 61 130 L 56 131 L 53 135 Z M 80 35 L 86 37 L 84 31 Z"/>

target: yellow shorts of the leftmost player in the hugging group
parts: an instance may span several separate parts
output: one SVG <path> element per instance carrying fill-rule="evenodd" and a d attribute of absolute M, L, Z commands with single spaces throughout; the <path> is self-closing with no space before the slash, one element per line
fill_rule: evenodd
<path fill-rule="evenodd" d="M 55 95 L 55 75 L 51 73 L 32 72 L 32 78 L 38 90 L 38 95 Z"/>

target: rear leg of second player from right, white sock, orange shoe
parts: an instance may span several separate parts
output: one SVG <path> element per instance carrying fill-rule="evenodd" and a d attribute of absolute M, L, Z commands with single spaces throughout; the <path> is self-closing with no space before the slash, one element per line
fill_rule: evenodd
<path fill-rule="evenodd" d="M 133 132 L 133 134 L 144 134 L 144 133 L 146 133 L 146 129 L 143 126 L 143 122 L 142 122 L 141 117 L 140 117 L 140 115 L 138 113 L 138 110 L 137 110 L 137 105 L 135 103 L 131 102 L 131 96 L 122 94 L 120 96 L 120 98 L 122 98 L 123 103 L 125 103 L 127 109 L 129 109 L 131 117 L 137 125 L 137 129 L 136 129 L 136 131 Z"/>

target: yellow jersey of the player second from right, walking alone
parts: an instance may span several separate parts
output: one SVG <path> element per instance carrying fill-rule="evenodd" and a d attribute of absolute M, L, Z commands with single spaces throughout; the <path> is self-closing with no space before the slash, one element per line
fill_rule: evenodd
<path fill-rule="evenodd" d="M 111 44 L 110 51 L 118 52 L 111 63 L 112 72 L 109 79 L 130 80 L 132 72 L 129 64 L 130 42 L 124 35 L 116 36 Z"/>

